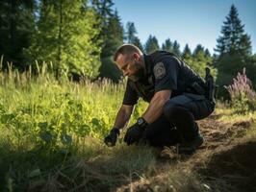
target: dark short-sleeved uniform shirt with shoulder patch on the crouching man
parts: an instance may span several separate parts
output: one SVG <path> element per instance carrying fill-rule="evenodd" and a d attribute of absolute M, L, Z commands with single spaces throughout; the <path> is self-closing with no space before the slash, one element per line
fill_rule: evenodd
<path fill-rule="evenodd" d="M 204 87 L 204 81 L 182 60 L 166 51 L 144 55 L 146 75 L 139 82 L 128 79 L 123 105 L 133 106 L 141 97 L 150 102 L 161 90 L 171 90 L 171 97 L 192 92 L 192 84 Z"/>

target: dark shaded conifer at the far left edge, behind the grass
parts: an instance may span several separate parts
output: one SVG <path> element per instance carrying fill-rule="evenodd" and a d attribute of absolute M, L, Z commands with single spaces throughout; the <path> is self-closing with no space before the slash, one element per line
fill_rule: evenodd
<path fill-rule="evenodd" d="M 35 31 L 35 10 L 35 0 L 0 2 L 0 56 L 18 68 L 24 68 L 22 49 L 30 46 Z"/>

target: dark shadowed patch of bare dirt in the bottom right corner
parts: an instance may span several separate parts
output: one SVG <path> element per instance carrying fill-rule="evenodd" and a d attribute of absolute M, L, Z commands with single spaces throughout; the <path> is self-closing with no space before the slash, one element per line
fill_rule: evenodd
<path fill-rule="evenodd" d="M 256 191 L 255 149 L 255 140 L 220 148 L 199 172 L 220 191 Z"/>

